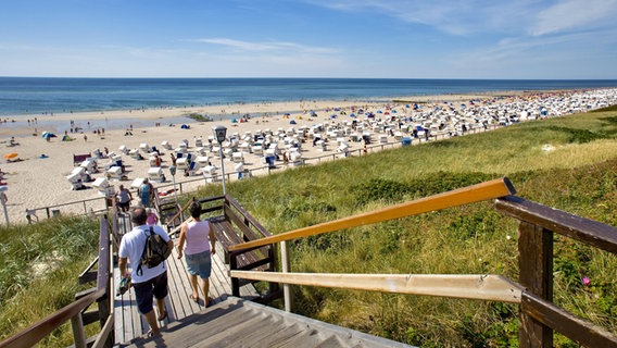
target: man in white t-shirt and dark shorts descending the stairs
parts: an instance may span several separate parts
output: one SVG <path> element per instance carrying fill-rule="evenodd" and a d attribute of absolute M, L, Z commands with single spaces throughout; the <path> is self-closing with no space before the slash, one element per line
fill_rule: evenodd
<path fill-rule="evenodd" d="M 141 265 L 141 274 L 138 272 L 128 272 L 127 265 L 136 271 L 141 262 L 141 253 L 146 246 L 147 234 L 150 234 L 150 226 L 146 225 L 146 209 L 137 208 L 131 213 L 131 221 L 135 227 L 124 235 L 118 249 L 118 269 L 123 278 L 130 277 L 133 288 L 135 289 L 135 298 L 139 313 L 143 315 L 150 331 L 148 336 L 160 335 L 158 320 L 167 318 L 165 309 L 165 297 L 167 296 L 167 263 L 161 262 L 159 265 L 149 268 Z M 153 226 L 152 233 L 160 235 L 163 240 L 167 241 L 169 248 L 174 247 L 174 241 L 169 238 L 165 229 L 161 226 Z M 156 308 L 159 318 L 154 313 L 153 298 L 156 299 Z"/>

